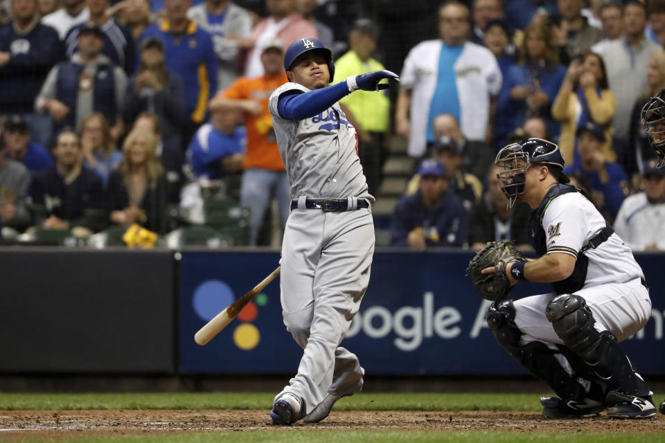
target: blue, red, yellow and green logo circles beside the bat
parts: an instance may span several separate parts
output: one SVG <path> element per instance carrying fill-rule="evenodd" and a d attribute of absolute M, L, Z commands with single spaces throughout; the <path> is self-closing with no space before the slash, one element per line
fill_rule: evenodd
<path fill-rule="evenodd" d="M 236 301 L 236 296 L 228 284 L 221 280 L 206 280 L 199 284 L 194 291 L 192 304 L 194 311 L 204 321 L 211 320 L 222 309 Z M 238 320 L 242 322 L 233 329 L 233 343 L 240 349 L 249 351 L 258 346 L 261 334 L 258 327 L 251 324 L 258 316 L 258 307 L 268 304 L 268 296 L 260 293 L 254 301 L 247 305 L 238 314 Z"/>

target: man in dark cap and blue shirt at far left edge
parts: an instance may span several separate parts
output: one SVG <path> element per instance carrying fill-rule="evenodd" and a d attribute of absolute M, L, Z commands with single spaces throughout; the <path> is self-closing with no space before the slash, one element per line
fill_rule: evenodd
<path fill-rule="evenodd" d="M 45 147 L 30 140 L 28 123 L 21 116 L 10 116 L 5 122 L 3 142 L 6 156 L 20 161 L 28 171 L 38 172 L 53 164 L 51 154 Z"/>

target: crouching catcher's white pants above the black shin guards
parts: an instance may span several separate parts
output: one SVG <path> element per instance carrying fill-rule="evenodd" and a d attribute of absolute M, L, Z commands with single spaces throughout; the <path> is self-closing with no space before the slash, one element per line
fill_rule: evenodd
<path fill-rule="evenodd" d="M 649 291 L 642 286 L 639 278 L 626 283 L 600 284 L 575 292 L 584 298 L 594 314 L 594 327 L 603 332 L 608 330 L 623 341 L 646 325 L 651 316 Z M 554 331 L 552 323 L 545 316 L 545 308 L 555 293 L 525 297 L 514 302 L 515 325 L 522 331 L 522 345 L 531 341 L 542 341 L 555 349 L 563 341 Z M 557 359 L 571 373 L 565 359 Z"/>

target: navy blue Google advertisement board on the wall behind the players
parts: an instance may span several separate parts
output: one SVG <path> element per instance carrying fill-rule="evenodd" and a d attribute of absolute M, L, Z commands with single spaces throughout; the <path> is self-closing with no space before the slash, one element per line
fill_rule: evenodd
<path fill-rule="evenodd" d="M 489 302 L 464 271 L 470 252 L 382 251 L 374 255 L 360 313 L 343 345 L 367 372 L 400 375 L 524 374 L 496 343 L 485 322 Z M 662 255 L 639 255 L 650 284 L 653 317 L 623 342 L 642 374 L 664 374 Z M 218 311 L 278 265 L 277 253 L 184 252 L 181 261 L 181 371 L 292 373 L 302 350 L 286 332 L 279 282 L 270 284 L 239 318 L 206 346 L 193 336 Z M 512 298 L 550 292 L 520 283 Z"/>

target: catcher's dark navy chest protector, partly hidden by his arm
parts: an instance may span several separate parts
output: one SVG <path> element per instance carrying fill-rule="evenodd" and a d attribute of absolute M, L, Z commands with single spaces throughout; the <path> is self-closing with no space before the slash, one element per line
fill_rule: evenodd
<path fill-rule="evenodd" d="M 559 197 L 560 195 L 567 194 L 568 192 L 578 192 L 577 188 L 571 185 L 558 184 L 552 186 L 545 194 L 545 197 L 540 202 L 537 209 L 532 210 L 529 214 L 529 237 L 531 238 L 531 246 L 538 254 L 538 257 L 547 254 L 547 237 L 545 230 L 542 227 L 542 216 L 549 206 L 549 203 Z M 587 280 L 587 266 L 589 259 L 582 251 L 577 254 L 577 261 L 575 262 L 575 269 L 570 277 L 559 282 L 553 282 L 552 286 L 554 291 L 558 294 L 574 293 L 584 287 L 584 282 Z"/>

